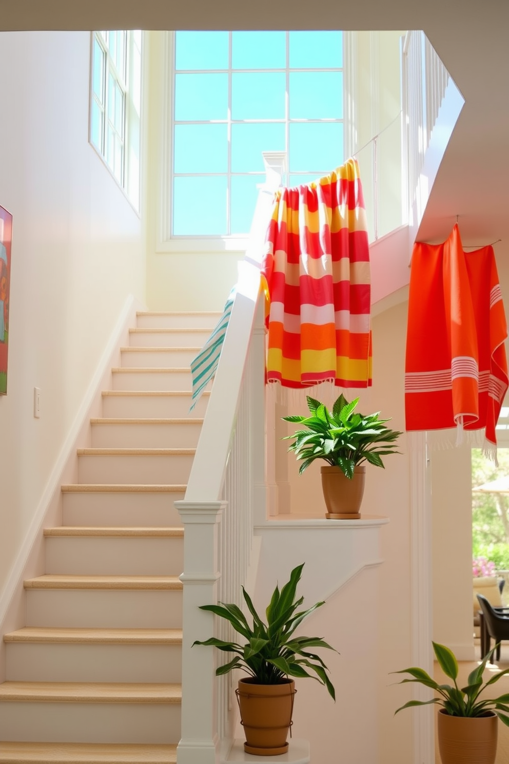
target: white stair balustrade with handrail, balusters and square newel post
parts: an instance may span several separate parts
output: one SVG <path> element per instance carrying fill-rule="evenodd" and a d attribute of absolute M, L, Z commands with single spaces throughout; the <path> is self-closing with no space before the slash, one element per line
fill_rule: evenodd
<path fill-rule="evenodd" d="M 234 602 L 251 563 L 254 517 L 266 516 L 265 329 L 259 263 L 284 155 L 264 155 L 250 244 L 188 480 L 176 502 L 184 523 L 182 739 L 179 764 L 216 764 L 234 736 L 232 675 L 216 678 L 217 650 L 197 646 L 209 636 L 231 639 L 228 623 L 199 610 Z M 221 657 L 227 659 L 227 653 Z"/>

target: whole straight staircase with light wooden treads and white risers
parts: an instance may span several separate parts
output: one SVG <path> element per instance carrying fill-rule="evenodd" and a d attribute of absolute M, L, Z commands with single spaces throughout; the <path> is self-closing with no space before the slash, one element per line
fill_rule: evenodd
<path fill-rule="evenodd" d="M 176 762 L 180 739 L 182 499 L 205 411 L 189 364 L 213 313 L 138 313 L 45 575 L 24 581 L 26 624 L 5 634 L 0 762 Z M 184 392 L 185 391 L 185 392 Z"/>

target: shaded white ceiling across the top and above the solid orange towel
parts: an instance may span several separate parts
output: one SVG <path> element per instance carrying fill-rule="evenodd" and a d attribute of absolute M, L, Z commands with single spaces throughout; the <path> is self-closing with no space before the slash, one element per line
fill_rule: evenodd
<path fill-rule="evenodd" d="M 509 0 L 0 0 L 14 29 L 424 29 L 465 106 L 433 186 L 421 241 L 456 215 L 464 244 L 509 254 Z"/>

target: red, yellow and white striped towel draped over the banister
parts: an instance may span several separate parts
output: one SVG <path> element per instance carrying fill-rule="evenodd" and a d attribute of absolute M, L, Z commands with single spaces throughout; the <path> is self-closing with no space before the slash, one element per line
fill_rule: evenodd
<path fill-rule="evenodd" d="M 356 160 L 276 193 L 262 272 L 270 309 L 267 382 L 372 383 L 366 211 Z"/>

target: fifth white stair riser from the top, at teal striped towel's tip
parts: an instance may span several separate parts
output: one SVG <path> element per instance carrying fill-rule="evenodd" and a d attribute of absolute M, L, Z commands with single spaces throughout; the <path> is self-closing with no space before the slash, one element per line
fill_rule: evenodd
<path fill-rule="evenodd" d="M 190 388 L 189 388 L 190 389 Z M 126 419 L 152 419 L 163 417 L 174 419 L 186 416 L 204 416 L 208 403 L 208 395 L 198 400 L 192 412 L 190 395 L 105 395 L 102 397 L 102 416 L 123 417 Z"/>

